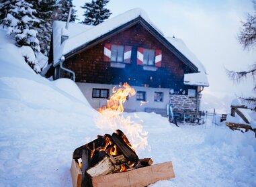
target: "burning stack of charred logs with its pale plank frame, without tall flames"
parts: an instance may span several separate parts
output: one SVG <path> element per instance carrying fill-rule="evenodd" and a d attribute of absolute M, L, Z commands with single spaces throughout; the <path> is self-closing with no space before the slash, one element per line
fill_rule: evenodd
<path fill-rule="evenodd" d="M 79 166 L 78 172 L 73 164 L 71 166 L 73 186 L 147 186 L 158 180 L 175 177 L 171 162 L 153 167 L 151 158 L 139 159 L 120 130 L 112 135 L 98 135 L 97 139 L 78 147 L 73 153 L 73 161 Z M 74 173 L 80 172 L 81 176 L 75 176 Z M 134 177 L 130 178 L 132 174 Z M 148 180 L 144 178 L 141 181 L 140 177 L 144 175 Z"/>

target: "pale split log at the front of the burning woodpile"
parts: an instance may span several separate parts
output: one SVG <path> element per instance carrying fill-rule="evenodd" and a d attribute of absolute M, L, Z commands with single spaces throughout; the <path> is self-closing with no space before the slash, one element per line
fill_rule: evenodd
<path fill-rule="evenodd" d="M 91 177 L 103 176 L 106 174 L 112 174 L 114 172 L 120 171 L 121 166 L 115 166 L 108 155 L 105 155 L 103 160 L 101 160 L 95 166 L 89 168 L 86 172 Z"/>

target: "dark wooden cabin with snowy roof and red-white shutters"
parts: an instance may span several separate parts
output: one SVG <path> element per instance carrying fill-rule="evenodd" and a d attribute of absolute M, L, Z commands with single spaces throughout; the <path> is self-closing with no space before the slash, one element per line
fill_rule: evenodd
<path fill-rule="evenodd" d="M 92 107 L 106 105 L 112 88 L 128 82 L 136 96 L 125 111 L 197 111 L 209 86 L 202 63 L 182 40 L 167 38 L 142 9 L 96 25 L 54 21 L 50 62 L 54 79 L 73 78 Z M 140 101 L 148 101 L 140 106 Z"/>

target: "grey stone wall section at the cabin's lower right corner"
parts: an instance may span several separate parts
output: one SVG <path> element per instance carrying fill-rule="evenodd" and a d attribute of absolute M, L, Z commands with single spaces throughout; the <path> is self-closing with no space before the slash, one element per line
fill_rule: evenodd
<path fill-rule="evenodd" d="M 188 97 L 187 95 L 170 95 L 170 101 L 173 105 L 173 111 L 196 111 L 196 97 Z"/>

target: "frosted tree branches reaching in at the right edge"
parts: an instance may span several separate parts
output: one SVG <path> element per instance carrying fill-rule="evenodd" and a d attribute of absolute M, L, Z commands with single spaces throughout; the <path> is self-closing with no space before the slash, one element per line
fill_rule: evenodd
<path fill-rule="evenodd" d="M 253 1 L 254 9 L 256 11 L 256 1 Z M 254 15 L 248 14 L 247 21 L 242 22 L 241 32 L 239 34 L 238 40 L 240 44 L 247 50 L 251 50 L 256 46 L 256 13 Z M 247 78 L 247 76 L 252 76 L 253 80 L 256 78 L 256 62 L 249 68 L 249 70 L 244 70 L 241 72 L 228 70 L 228 76 L 233 80 L 241 80 Z M 254 82 L 253 90 L 256 92 L 256 84 Z M 256 105 L 256 97 L 241 98 L 249 103 L 254 103 Z"/>

